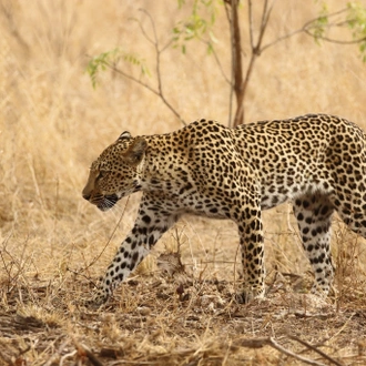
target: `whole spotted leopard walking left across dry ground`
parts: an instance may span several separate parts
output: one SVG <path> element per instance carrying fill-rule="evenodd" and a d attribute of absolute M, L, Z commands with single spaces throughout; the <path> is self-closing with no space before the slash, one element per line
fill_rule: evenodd
<path fill-rule="evenodd" d="M 237 225 L 240 298 L 266 295 L 262 211 L 288 202 L 314 272 L 309 293 L 327 297 L 335 213 L 366 237 L 366 136 L 355 123 L 306 114 L 225 126 L 201 119 L 182 129 L 133 138 L 123 132 L 91 164 L 82 196 L 101 211 L 142 192 L 135 223 L 94 289 L 105 303 L 157 240 L 183 215 Z"/>

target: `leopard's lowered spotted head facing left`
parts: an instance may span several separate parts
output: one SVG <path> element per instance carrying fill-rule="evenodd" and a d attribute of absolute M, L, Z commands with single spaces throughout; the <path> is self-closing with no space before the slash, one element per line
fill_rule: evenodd
<path fill-rule="evenodd" d="M 143 138 L 132 138 L 123 132 L 92 163 L 82 196 L 106 211 L 133 192 L 141 190 L 140 171 L 148 143 Z"/>

